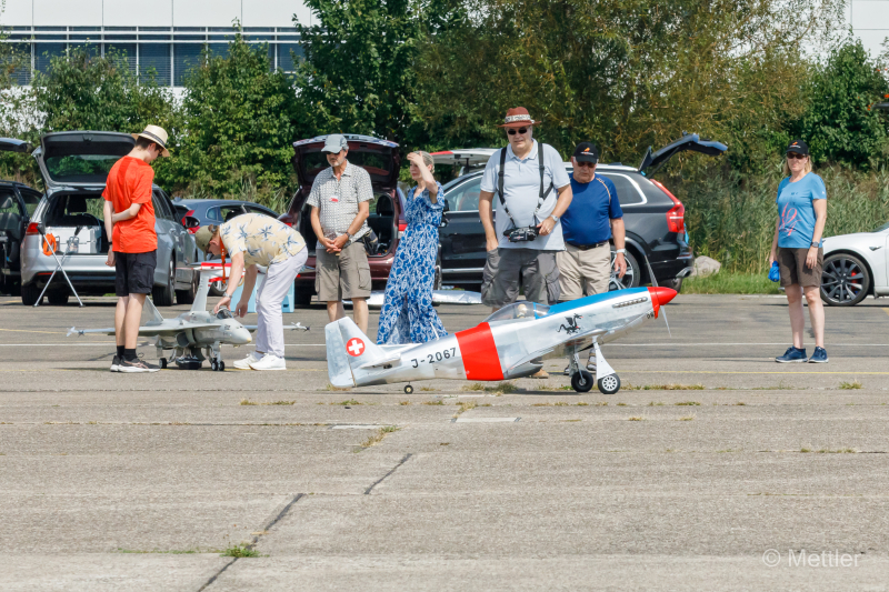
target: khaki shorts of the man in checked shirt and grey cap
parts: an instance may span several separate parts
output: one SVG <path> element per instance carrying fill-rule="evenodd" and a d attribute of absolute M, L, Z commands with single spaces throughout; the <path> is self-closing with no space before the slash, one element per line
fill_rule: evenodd
<path fill-rule="evenodd" d="M 364 243 L 358 241 L 340 251 L 314 250 L 314 291 L 321 302 L 370 298 L 370 263 Z"/>

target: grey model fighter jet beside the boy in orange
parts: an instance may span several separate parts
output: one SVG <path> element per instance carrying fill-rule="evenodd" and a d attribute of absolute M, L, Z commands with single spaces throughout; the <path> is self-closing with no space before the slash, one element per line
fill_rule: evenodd
<path fill-rule="evenodd" d="M 226 278 L 217 278 L 219 265 L 204 263 L 201 268 L 201 281 L 191 310 L 183 312 L 176 319 L 164 319 L 158 309 L 146 299 L 143 314 L 150 319 L 139 328 L 139 337 L 154 338 L 154 345 L 158 349 L 160 367 L 167 368 L 168 364 L 176 364 L 183 370 L 200 370 L 202 363 L 210 359 L 210 369 L 213 371 L 226 370 L 226 362 L 222 361 L 220 345 L 244 345 L 250 343 L 253 338 L 251 331 L 257 330 L 254 324 L 241 324 L 226 308 L 219 310 L 217 314 L 207 310 L 207 293 L 210 284 L 216 281 L 224 281 Z M 143 317 L 144 318 L 144 317 Z M 308 327 L 300 323 L 284 325 L 284 329 L 308 331 Z M 86 333 L 107 333 L 114 334 L 114 328 L 108 329 L 77 329 L 72 327 L 68 330 L 68 335 Z M 167 357 L 164 350 L 172 353 Z M 206 357 L 201 353 L 203 353 Z"/>

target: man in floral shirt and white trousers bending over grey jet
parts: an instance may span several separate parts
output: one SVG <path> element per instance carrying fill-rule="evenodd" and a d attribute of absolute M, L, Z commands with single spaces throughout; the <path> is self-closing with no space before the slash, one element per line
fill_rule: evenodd
<path fill-rule="evenodd" d="M 246 213 L 219 227 L 203 227 L 194 234 L 194 241 L 201 251 L 222 255 L 223 264 L 226 253 L 231 258 L 231 279 L 213 312 L 230 304 L 246 269 L 241 301 L 234 309 L 236 315 L 246 315 L 257 281 L 257 265 L 268 268 L 257 292 L 257 351 L 234 362 L 234 368 L 287 370 L 281 304 L 309 258 L 300 233 L 268 215 Z"/>

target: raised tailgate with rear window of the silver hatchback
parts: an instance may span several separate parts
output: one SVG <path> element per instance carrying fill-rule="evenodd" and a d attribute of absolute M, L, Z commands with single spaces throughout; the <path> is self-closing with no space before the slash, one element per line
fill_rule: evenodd
<path fill-rule="evenodd" d="M 40 138 L 33 157 L 47 189 L 101 187 L 114 162 L 136 144 L 132 136 L 111 131 L 61 131 Z"/>

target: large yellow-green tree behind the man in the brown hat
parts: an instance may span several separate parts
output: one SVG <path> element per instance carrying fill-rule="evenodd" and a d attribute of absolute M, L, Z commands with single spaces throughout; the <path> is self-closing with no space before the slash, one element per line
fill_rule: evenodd
<path fill-rule="evenodd" d="M 461 143 L 505 143 L 495 126 L 522 104 L 542 120 L 538 136 L 563 154 L 592 139 L 608 160 L 638 162 L 648 146 L 688 130 L 755 165 L 787 112 L 805 109 L 800 39 L 840 6 L 469 0 L 461 19 L 423 43 L 417 102 L 430 136 Z"/>

